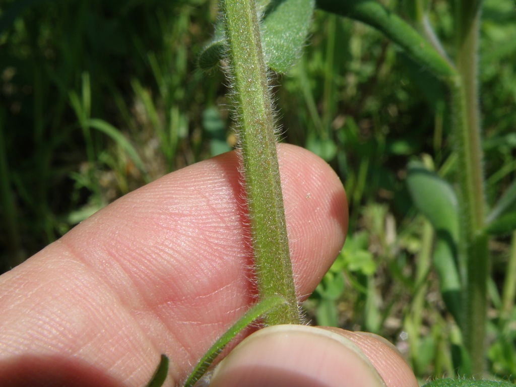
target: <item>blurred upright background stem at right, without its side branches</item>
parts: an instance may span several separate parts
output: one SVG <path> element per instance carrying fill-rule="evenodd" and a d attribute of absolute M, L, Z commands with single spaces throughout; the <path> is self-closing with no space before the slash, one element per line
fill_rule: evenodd
<path fill-rule="evenodd" d="M 459 2 L 457 14 L 457 70 L 451 107 L 455 119 L 455 148 L 460 172 L 461 246 L 466 257 L 464 344 L 472 360 L 472 374 L 485 369 L 488 237 L 483 231 L 486 199 L 480 137 L 477 62 L 480 2 Z"/>

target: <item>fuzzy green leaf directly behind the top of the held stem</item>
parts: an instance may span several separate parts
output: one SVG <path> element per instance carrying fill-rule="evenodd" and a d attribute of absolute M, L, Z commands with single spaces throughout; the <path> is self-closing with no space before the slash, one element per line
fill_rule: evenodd
<path fill-rule="evenodd" d="M 272 0 L 261 26 L 267 66 L 285 73 L 294 66 L 305 45 L 315 9 L 314 0 Z"/>

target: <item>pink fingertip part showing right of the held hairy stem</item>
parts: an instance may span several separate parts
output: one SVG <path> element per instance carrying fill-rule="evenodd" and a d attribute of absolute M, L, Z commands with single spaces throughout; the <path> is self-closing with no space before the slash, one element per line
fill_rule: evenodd
<path fill-rule="evenodd" d="M 300 295 L 307 295 L 344 244 L 348 229 L 346 192 L 333 169 L 314 153 L 281 144 L 278 157 L 293 270 L 303 279 L 298 287 Z"/>

